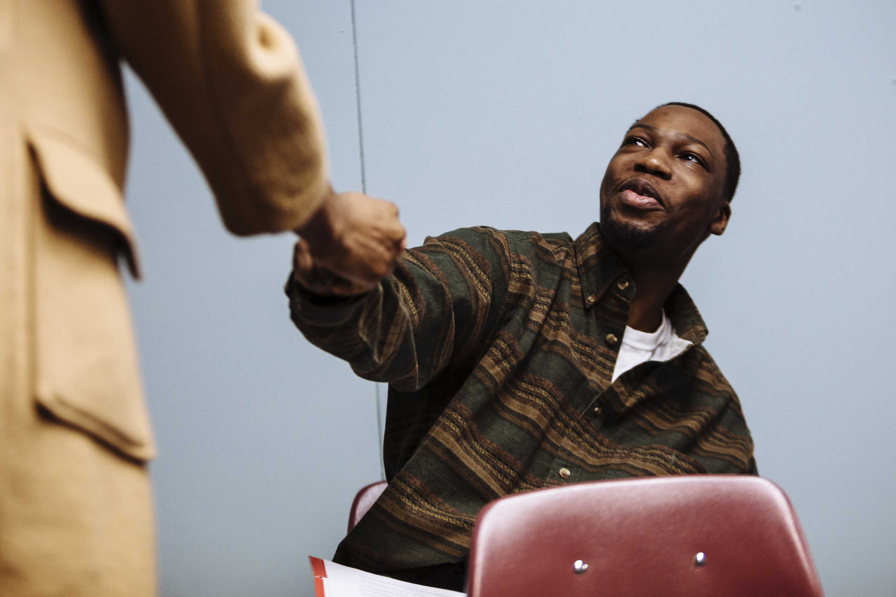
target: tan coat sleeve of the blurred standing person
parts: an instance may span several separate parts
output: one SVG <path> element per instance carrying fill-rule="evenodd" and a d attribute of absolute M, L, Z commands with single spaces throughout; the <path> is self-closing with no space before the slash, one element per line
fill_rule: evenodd
<path fill-rule="evenodd" d="M 100 0 L 237 235 L 305 223 L 329 189 L 323 125 L 289 33 L 256 0 Z"/>

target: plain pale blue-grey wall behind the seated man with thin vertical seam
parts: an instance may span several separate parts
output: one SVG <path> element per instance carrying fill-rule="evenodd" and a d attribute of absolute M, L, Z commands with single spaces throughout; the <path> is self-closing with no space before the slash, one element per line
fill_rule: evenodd
<path fill-rule="evenodd" d="M 302 49 L 334 185 L 358 189 L 349 0 L 264 8 Z M 473 225 L 578 235 L 635 118 L 670 100 L 719 117 L 744 175 L 683 282 L 826 593 L 896 595 L 896 3 L 358 0 L 357 24 L 367 190 L 412 245 Z M 312 595 L 306 556 L 332 555 L 380 478 L 374 384 L 289 322 L 290 235 L 224 232 L 127 88 L 161 594 Z"/>

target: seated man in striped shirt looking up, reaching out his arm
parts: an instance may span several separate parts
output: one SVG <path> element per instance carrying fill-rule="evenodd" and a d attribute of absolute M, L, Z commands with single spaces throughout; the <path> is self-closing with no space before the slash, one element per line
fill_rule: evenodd
<path fill-rule="evenodd" d="M 725 231 L 739 174 L 715 118 L 668 104 L 625 133 L 600 222 L 574 241 L 462 228 L 404 252 L 373 287 L 328 274 L 300 242 L 287 285 L 297 327 L 389 383 L 389 485 L 334 561 L 451 586 L 489 500 L 755 474 L 737 395 L 678 284 L 700 243 Z"/>

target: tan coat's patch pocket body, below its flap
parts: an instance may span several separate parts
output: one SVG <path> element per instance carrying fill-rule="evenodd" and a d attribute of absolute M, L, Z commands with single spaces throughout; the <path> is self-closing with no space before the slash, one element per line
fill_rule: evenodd
<path fill-rule="evenodd" d="M 37 401 L 118 452 L 150 460 L 155 442 L 114 255 L 51 222 L 37 232 Z"/>

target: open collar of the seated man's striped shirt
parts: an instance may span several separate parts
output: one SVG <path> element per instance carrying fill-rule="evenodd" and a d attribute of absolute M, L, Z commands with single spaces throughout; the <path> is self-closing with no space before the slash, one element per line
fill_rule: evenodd
<path fill-rule="evenodd" d="M 600 235 L 598 222 L 575 239 L 576 265 L 582 281 L 585 310 L 599 303 L 607 288 L 620 276 L 630 281 L 628 269 Z M 666 301 L 665 311 L 676 335 L 695 345 L 702 344 L 709 330 L 684 286 L 676 285 Z"/>

